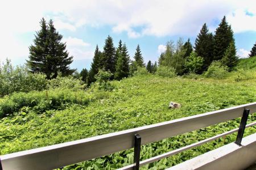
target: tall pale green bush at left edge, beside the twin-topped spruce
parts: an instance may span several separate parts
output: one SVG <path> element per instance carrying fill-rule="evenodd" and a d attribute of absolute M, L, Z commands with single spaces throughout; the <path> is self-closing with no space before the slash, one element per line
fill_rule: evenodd
<path fill-rule="evenodd" d="M 9 59 L 0 64 L 0 97 L 13 92 L 42 91 L 46 86 L 44 74 L 32 74 L 25 66 L 14 68 Z"/>

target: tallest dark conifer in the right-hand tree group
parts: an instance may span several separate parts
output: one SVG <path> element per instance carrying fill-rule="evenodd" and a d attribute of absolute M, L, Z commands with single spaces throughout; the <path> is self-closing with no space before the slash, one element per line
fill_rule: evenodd
<path fill-rule="evenodd" d="M 230 42 L 234 42 L 233 31 L 230 25 L 226 22 L 226 16 L 224 16 L 221 23 L 218 25 L 213 41 L 213 58 L 214 60 L 219 60 L 224 57 L 224 53 Z"/>

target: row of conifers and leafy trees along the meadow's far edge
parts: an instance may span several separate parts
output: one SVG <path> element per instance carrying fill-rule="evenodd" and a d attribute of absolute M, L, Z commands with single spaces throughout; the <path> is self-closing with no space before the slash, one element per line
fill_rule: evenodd
<path fill-rule="evenodd" d="M 61 42 L 62 35 L 56 31 L 53 21 L 47 23 L 44 18 L 40 21 L 40 30 L 36 32 L 34 45 L 29 47 L 27 66 L 31 73 L 44 73 L 47 79 L 56 78 L 58 74 L 63 76 L 74 74 L 76 69 L 70 69 L 73 56 L 69 56 L 66 44 Z M 256 54 L 256 42 L 249 54 Z M 88 84 L 96 81 L 99 70 L 109 71 L 110 79 L 121 80 L 133 75 L 139 67 L 144 67 L 149 73 L 155 73 L 158 67 L 174 69 L 176 74 L 187 73 L 202 74 L 207 71 L 213 61 L 219 61 L 232 71 L 237 64 L 236 46 L 231 26 L 226 22 L 226 17 L 213 33 L 209 32 L 207 24 L 203 24 L 199 35 L 196 37 L 195 46 L 188 39 L 186 42 L 180 38 L 176 44 L 168 41 L 166 50 L 160 54 L 158 63 L 148 61 L 144 63 L 141 48 L 138 45 L 134 60 L 130 59 L 127 46 L 119 40 L 115 48 L 112 37 L 108 36 L 102 52 L 96 46 L 90 70 L 82 69 L 79 76 Z"/>

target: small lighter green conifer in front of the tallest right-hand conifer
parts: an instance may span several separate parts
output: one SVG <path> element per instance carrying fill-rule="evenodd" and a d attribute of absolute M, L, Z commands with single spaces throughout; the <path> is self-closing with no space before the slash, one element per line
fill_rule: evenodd
<path fill-rule="evenodd" d="M 230 42 L 228 48 L 224 53 L 224 57 L 221 59 L 223 65 L 228 66 L 229 71 L 233 70 L 234 66 L 238 63 L 238 57 L 236 53 L 236 46 L 234 42 Z"/>

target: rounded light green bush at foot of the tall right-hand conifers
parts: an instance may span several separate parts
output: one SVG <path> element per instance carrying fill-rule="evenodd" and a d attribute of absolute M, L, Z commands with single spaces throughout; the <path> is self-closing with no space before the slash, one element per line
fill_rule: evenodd
<path fill-rule="evenodd" d="M 225 78 L 227 74 L 227 66 L 223 66 L 220 61 L 213 61 L 204 75 L 207 78 L 222 79 Z"/>

